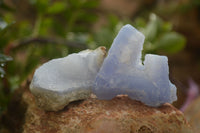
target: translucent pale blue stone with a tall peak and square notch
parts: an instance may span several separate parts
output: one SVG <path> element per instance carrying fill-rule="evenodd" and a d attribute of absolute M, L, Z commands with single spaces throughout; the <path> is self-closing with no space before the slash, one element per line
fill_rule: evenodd
<path fill-rule="evenodd" d="M 147 54 L 141 61 L 144 38 L 131 25 L 122 27 L 96 76 L 92 91 L 98 99 L 127 94 L 153 107 L 177 100 L 167 57 Z"/>

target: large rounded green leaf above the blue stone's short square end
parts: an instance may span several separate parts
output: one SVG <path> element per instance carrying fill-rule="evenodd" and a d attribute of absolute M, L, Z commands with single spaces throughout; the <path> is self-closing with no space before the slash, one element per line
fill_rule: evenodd
<path fill-rule="evenodd" d="M 185 46 L 186 40 L 185 38 L 176 33 L 176 32 L 168 32 L 164 34 L 156 43 L 157 50 L 168 52 L 168 53 L 176 53 L 182 50 Z"/>

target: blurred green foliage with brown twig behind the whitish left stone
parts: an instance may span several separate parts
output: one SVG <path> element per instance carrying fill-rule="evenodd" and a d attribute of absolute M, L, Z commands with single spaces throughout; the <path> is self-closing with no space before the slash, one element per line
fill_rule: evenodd
<path fill-rule="evenodd" d="M 0 113 L 13 90 L 42 62 L 88 47 L 81 36 L 91 32 L 98 2 L 27 0 L 8 6 L 0 1 L 0 63 L 13 58 L 4 69 L 0 67 L 0 72 L 6 74 L 0 79 Z"/>

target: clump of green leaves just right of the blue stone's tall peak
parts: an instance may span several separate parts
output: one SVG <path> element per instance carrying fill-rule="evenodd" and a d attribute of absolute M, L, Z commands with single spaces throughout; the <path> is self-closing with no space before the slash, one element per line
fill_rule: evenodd
<path fill-rule="evenodd" d="M 141 21 L 141 19 L 136 20 L 136 25 L 146 37 L 144 53 L 164 52 L 173 54 L 184 48 L 186 44 L 185 37 L 173 31 L 171 23 L 163 21 L 155 14 L 150 14 L 148 23 L 145 24 Z"/>

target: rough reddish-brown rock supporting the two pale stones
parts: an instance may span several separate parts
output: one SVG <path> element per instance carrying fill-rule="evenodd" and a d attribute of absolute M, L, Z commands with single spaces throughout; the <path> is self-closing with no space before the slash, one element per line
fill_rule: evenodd
<path fill-rule="evenodd" d="M 9 109 L 7 117 L 2 117 L 3 124 L 0 120 L 0 132 L 8 129 L 7 133 L 192 133 L 183 114 L 172 105 L 153 108 L 127 96 L 112 100 L 88 98 L 70 103 L 61 111 L 47 112 L 36 106 L 35 98 L 26 89 Z M 16 118 L 21 121 L 13 123 Z M 6 129 L 1 130 L 2 126 Z"/>

